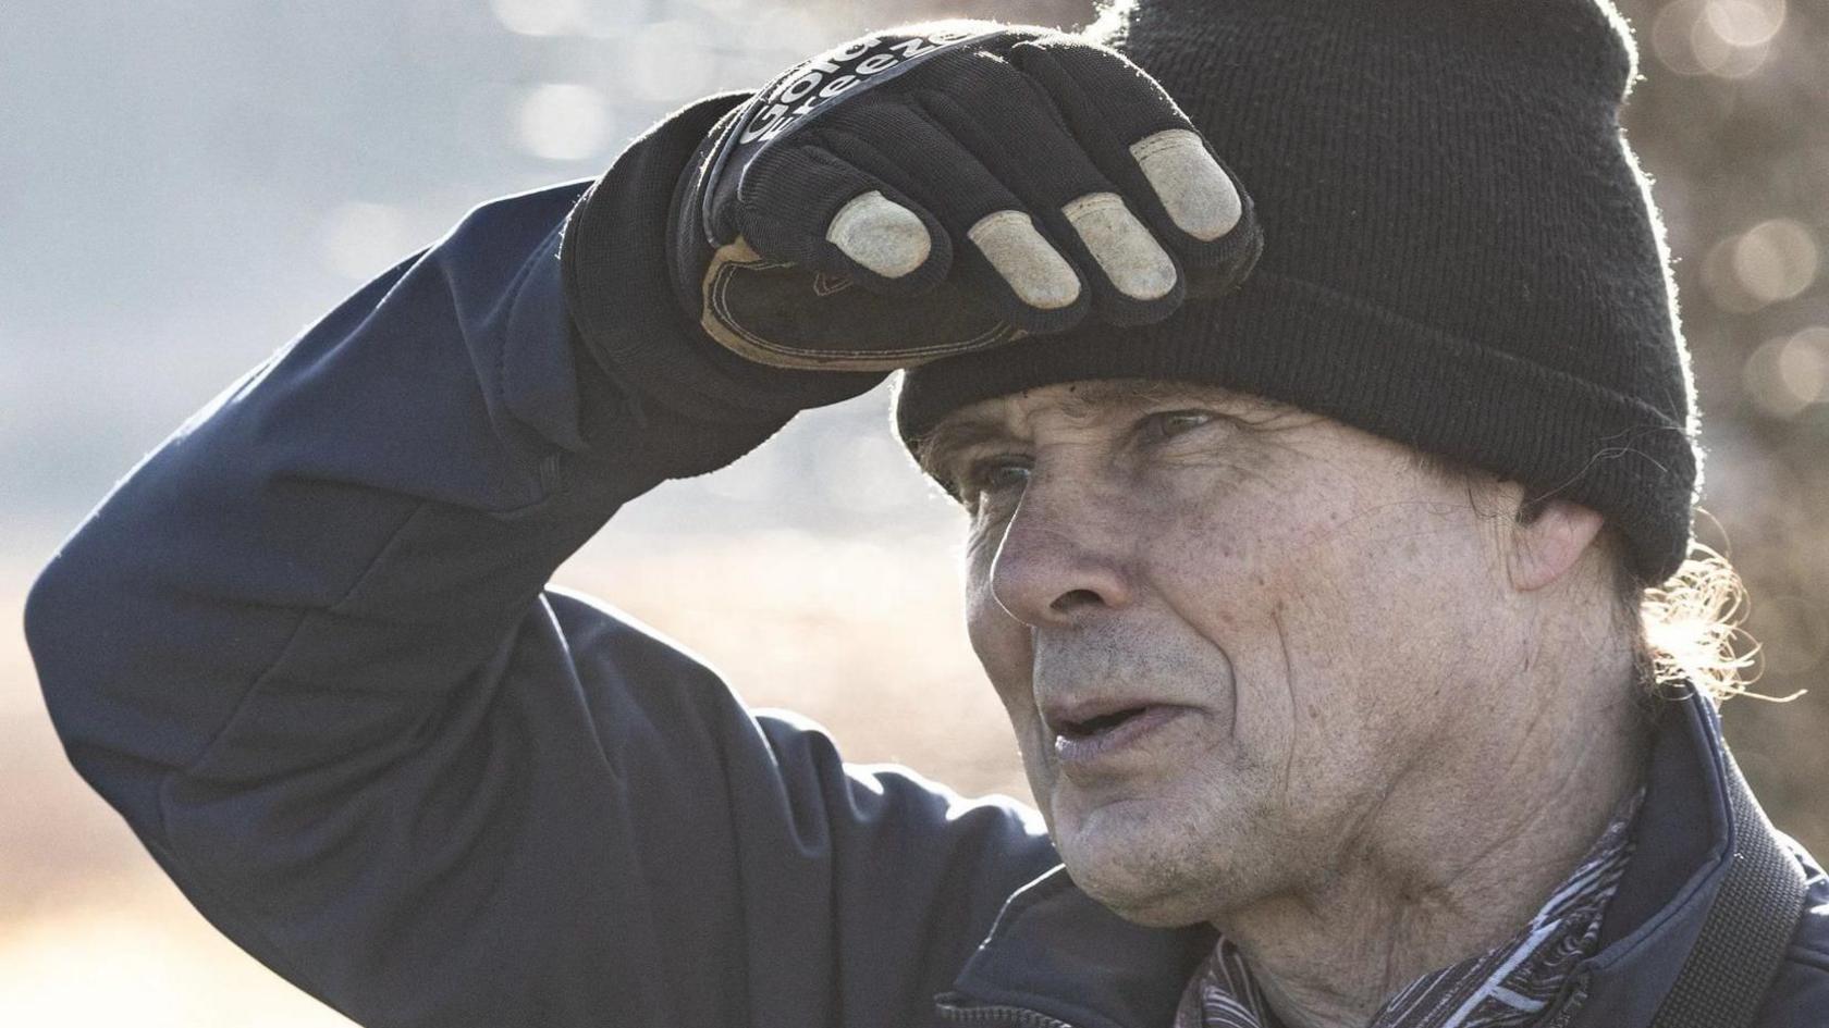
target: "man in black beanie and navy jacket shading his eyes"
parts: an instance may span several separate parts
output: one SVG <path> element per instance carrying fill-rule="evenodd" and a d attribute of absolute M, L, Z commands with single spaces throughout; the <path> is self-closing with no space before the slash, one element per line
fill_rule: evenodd
<path fill-rule="evenodd" d="M 869 37 L 351 296 L 33 589 L 79 770 L 364 1024 L 1829 1023 L 1631 613 L 1695 459 L 1611 11 L 1094 40 Z M 1048 834 L 545 587 L 889 368 Z"/>

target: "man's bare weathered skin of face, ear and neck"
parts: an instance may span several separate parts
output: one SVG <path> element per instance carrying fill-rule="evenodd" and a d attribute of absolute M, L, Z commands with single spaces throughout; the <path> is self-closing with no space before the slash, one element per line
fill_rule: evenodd
<path fill-rule="evenodd" d="M 1225 390 L 1083 382 L 955 412 L 924 461 L 971 510 L 971 644 L 1070 874 L 1280 964 L 1297 1023 L 1503 940 L 1639 766 L 1600 518 L 1525 521 L 1522 487 L 1416 457 Z M 1044 712 L 1114 706 L 1150 728 L 1063 761 Z"/>

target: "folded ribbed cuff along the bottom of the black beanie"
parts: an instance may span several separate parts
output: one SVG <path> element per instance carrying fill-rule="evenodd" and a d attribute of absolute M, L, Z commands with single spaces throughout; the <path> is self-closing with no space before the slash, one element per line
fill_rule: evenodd
<path fill-rule="evenodd" d="M 904 375 L 909 448 L 949 412 L 1085 379 L 1205 382 L 1335 417 L 1599 510 L 1644 582 L 1688 552 L 1695 457 L 1683 424 L 1624 393 L 1333 289 L 1260 271 L 1143 329 L 1079 327 Z"/>

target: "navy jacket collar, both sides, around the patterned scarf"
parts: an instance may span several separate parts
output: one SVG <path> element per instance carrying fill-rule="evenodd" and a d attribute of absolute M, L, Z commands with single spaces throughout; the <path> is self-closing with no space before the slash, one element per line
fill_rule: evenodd
<path fill-rule="evenodd" d="M 1686 691 L 1663 704 L 1637 851 L 1608 907 L 1600 951 L 1571 979 L 1588 999 L 1569 1028 L 1641 1028 L 1670 991 L 1734 845 L 1725 761 L 1706 699 Z M 940 1004 L 955 1021 L 1165 1028 L 1214 940 L 1205 926 L 1125 922 L 1055 867 L 1004 902 Z"/>

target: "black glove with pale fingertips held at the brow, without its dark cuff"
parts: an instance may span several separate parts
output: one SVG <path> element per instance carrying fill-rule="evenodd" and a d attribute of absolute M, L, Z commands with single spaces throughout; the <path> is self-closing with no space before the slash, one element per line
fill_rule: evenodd
<path fill-rule="evenodd" d="M 863 37 L 728 112 L 688 165 L 686 315 L 777 368 L 883 371 L 1161 320 L 1236 287 L 1251 199 L 1119 53 L 938 22 Z"/>

